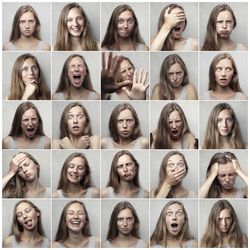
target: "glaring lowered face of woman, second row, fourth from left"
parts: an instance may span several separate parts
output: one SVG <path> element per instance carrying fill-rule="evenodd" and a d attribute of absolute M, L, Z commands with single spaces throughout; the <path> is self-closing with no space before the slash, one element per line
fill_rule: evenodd
<path fill-rule="evenodd" d="M 172 64 L 168 70 L 168 77 L 173 88 L 179 88 L 184 79 L 184 70 L 179 63 Z"/>

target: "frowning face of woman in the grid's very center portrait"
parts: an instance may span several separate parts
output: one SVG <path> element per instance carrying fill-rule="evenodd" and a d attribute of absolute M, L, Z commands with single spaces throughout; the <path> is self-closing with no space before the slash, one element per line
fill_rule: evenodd
<path fill-rule="evenodd" d="M 122 110 L 117 117 L 117 132 L 119 137 L 128 139 L 135 129 L 135 119 L 129 109 Z"/>

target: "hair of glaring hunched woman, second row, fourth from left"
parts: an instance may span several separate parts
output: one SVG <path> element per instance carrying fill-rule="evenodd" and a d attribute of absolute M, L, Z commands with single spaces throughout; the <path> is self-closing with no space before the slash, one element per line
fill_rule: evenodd
<path fill-rule="evenodd" d="M 181 66 L 184 72 L 182 87 L 189 83 L 188 70 L 182 58 L 177 54 L 168 55 L 164 59 L 160 70 L 160 83 L 159 83 L 160 100 L 175 99 L 174 89 L 171 85 L 171 80 L 169 79 L 169 69 L 172 65 L 176 63 L 178 63 Z"/>

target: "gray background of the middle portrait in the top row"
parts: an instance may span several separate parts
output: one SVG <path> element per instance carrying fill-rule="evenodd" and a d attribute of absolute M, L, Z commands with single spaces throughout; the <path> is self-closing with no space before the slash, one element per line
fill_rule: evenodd
<path fill-rule="evenodd" d="M 113 10 L 122 4 L 128 4 L 135 12 L 139 31 L 145 44 L 149 46 L 149 4 L 135 2 L 102 3 L 101 6 L 101 42 L 106 34 L 108 23 Z"/>

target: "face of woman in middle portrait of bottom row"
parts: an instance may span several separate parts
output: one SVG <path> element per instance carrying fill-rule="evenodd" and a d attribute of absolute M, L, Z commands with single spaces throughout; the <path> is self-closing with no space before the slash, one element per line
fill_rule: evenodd
<path fill-rule="evenodd" d="M 127 236 L 133 230 L 134 216 L 129 208 L 121 210 L 117 215 L 117 229 L 121 235 Z"/>

